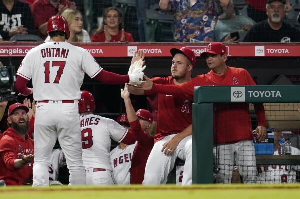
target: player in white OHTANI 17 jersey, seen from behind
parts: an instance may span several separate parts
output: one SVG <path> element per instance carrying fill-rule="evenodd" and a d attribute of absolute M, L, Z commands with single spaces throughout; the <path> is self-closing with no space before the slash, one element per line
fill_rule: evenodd
<path fill-rule="evenodd" d="M 86 50 L 65 42 L 70 31 L 62 16 L 49 19 L 47 32 L 51 42 L 34 47 L 26 54 L 15 83 L 16 91 L 23 95 L 33 93 L 37 102 L 33 187 L 49 185 L 48 164 L 57 138 L 66 156 L 69 185 L 86 184 L 78 113 L 84 73 L 103 83 L 136 83 L 142 80 L 145 67 L 129 75 L 103 70 Z M 30 79 L 32 89 L 26 87 Z"/>

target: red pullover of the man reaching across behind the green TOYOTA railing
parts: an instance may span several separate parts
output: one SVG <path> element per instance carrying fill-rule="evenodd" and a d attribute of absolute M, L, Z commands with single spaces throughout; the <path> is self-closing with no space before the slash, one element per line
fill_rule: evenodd
<path fill-rule="evenodd" d="M 185 94 L 192 99 L 195 86 L 245 86 L 256 85 L 248 71 L 243 68 L 227 67 L 222 76 L 210 71 L 198 75 L 191 81 L 180 85 L 165 86 L 153 84 L 152 91 L 172 95 Z M 265 112 L 262 104 L 254 104 L 258 125 L 266 126 Z M 181 118 L 180 118 L 181 119 Z M 252 139 L 252 125 L 249 115 L 249 105 L 215 104 L 214 105 L 214 143 L 235 143 L 240 140 Z"/>

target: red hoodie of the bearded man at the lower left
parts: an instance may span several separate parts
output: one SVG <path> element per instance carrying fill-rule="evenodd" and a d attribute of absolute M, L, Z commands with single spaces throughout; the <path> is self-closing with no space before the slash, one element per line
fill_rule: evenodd
<path fill-rule="evenodd" d="M 17 169 L 14 160 L 18 153 L 34 154 L 34 141 L 26 134 L 25 139 L 9 127 L 0 140 L 0 179 L 7 185 L 23 185 L 32 178 L 33 161 Z"/>

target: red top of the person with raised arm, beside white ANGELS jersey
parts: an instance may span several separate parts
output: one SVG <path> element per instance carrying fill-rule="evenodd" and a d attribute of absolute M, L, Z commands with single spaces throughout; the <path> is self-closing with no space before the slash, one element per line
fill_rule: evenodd
<path fill-rule="evenodd" d="M 145 132 L 139 120 L 130 122 L 131 132 L 137 145 L 133 151 L 130 171 L 130 184 L 142 184 L 148 156 L 154 145 L 154 139 Z"/>

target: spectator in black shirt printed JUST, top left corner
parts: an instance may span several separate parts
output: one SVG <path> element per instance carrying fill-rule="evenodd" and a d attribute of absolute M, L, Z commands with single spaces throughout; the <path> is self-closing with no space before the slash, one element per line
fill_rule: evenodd
<path fill-rule="evenodd" d="M 20 34 L 35 34 L 33 17 L 27 3 L 19 0 L 1 0 L 0 13 L 0 34 L 3 40 Z"/>

